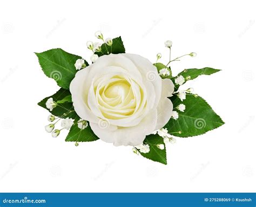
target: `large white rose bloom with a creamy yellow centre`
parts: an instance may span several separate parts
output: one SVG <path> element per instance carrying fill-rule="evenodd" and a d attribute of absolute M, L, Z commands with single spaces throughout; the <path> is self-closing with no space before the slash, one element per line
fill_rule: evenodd
<path fill-rule="evenodd" d="M 101 56 L 70 84 L 75 111 L 92 131 L 115 146 L 136 146 L 172 116 L 174 85 L 135 54 Z"/>

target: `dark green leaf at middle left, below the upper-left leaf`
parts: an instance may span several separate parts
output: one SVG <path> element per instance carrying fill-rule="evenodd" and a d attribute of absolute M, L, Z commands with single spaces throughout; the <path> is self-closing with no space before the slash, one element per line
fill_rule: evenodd
<path fill-rule="evenodd" d="M 38 103 L 39 106 L 42 106 L 44 109 L 48 110 L 52 115 L 55 115 L 57 117 L 61 118 L 73 118 L 75 119 L 77 117 L 77 114 L 73 108 L 73 104 L 66 102 L 66 103 L 60 103 L 54 108 L 52 111 L 46 108 L 46 101 L 49 98 L 52 98 L 53 101 L 58 102 L 59 100 L 62 100 L 63 98 L 70 96 L 70 91 L 66 89 L 59 89 L 56 94 L 53 94 L 52 96 L 44 98 L 41 102 Z"/>

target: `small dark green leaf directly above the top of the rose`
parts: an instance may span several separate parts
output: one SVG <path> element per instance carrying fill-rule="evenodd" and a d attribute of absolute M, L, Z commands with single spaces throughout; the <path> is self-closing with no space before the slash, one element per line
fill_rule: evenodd
<path fill-rule="evenodd" d="M 95 52 L 98 56 L 112 54 L 125 53 L 125 48 L 121 37 L 114 38 L 112 46 L 108 46 L 107 44 L 102 44 L 101 46 L 102 52 Z M 109 53 L 107 53 L 109 52 Z"/>

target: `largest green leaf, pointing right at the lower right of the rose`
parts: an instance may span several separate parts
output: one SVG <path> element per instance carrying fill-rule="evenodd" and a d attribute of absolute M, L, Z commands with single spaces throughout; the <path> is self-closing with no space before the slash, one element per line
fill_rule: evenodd
<path fill-rule="evenodd" d="M 224 124 L 223 120 L 200 96 L 194 97 L 192 94 L 187 94 L 183 102 L 180 101 L 177 95 L 172 96 L 170 99 L 173 103 L 173 108 L 176 108 L 181 103 L 186 106 L 184 112 L 174 109 L 179 113 L 179 118 L 177 120 L 171 118 L 164 126 L 169 133 L 177 137 L 192 137 L 204 134 Z M 181 131 L 181 134 L 177 133 L 179 131 Z"/>

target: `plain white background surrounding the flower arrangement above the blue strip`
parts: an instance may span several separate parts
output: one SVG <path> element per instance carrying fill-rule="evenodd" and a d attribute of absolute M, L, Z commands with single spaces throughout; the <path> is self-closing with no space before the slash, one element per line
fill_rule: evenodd
<path fill-rule="evenodd" d="M 0 3 L 1 192 L 255 192 L 254 1 L 2 1 Z M 103 141 L 65 142 L 44 130 L 37 106 L 58 90 L 33 52 L 51 48 L 89 60 L 94 32 L 122 36 L 126 52 L 184 68 L 222 69 L 186 83 L 226 122 L 167 146 L 168 165 Z"/>

